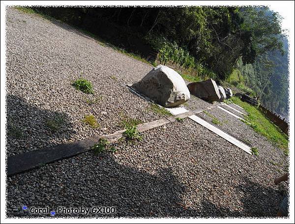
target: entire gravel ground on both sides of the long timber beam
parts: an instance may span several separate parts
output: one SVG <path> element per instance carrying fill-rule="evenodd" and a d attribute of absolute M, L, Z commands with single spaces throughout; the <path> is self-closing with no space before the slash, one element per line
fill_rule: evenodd
<path fill-rule="evenodd" d="M 113 133 L 124 117 L 144 122 L 162 117 L 122 86 L 141 79 L 151 66 L 65 25 L 7 12 L 8 155 Z M 71 86 L 80 76 L 93 83 L 93 96 Z M 88 97 L 97 103 L 88 105 Z M 190 110 L 207 105 L 212 104 L 194 97 L 188 102 Z M 250 140 L 260 155 L 251 156 L 186 118 L 144 132 L 140 142 L 114 144 L 117 153 L 88 152 L 8 178 L 7 215 L 33 216 L 22 210 L 27 205 L 49 211 L 115 206 L 114 216 L 133 217 L 274 216 L 287 185 L 274 186 L 273 179 L 286 159 L 249 126 L 220 109 L 211 111 L 227 120 L 222 128 Z M 100 128 L 81 121 L 90 113 Z M 63 124 L 52 133 L 46 124 L 55 117 Z"/>

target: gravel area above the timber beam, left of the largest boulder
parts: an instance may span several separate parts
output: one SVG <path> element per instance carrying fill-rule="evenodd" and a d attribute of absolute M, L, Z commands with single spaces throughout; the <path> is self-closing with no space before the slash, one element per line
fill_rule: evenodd
<path fill-rule="evenodd" d="M 13 8 L 7 9 L 6 24 L 8 156 L 113 133 L 124 119 L 162 117 L 124 86 L 152 66 L 74 28 Z M 93 95 L 71 85 L 80 77 L 91 81 Z M 83 123 L 90 114 L 99 128 Z"/>

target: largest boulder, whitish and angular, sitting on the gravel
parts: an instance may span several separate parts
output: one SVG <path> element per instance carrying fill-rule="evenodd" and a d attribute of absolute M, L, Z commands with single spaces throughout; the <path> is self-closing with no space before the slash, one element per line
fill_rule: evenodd
<path fill-rule="evenodd" d="M 163 107 L 176 107 L 190 99 L 189 90 L 182 77 L 164 65 L 153 68 L 132 87 Z"/>

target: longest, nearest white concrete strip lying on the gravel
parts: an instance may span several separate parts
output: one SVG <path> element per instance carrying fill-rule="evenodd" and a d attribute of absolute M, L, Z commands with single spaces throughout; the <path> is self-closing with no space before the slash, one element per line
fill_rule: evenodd
<path fill-rule="evenodd" d="M 201 119 L 200 117 L 198 117 L 196 115 L 191 115 L 191 116 L 189 116 L 189 118 L 192 119 L 193 121 L 197 122 L 198 124 L 204 126 L 205 128 L 209 129 L 210 131 L 214 132 L 215 134 L 217 134 L 221 138 L 223 138 L 223 139 L 231 142 L 232 144 L 236 145 L 237 147 L 244 150 L 245 152 L 247 152 L 249 154 L 252 154 L 251 148 L 248 145 L 246 145 L 243 142 L 235 139 L 234 137 L 230 136 L 229 134 L 221 131 L 220 129 L 216 128 L 215 126 L 209 124 L 207 121 Z"/>

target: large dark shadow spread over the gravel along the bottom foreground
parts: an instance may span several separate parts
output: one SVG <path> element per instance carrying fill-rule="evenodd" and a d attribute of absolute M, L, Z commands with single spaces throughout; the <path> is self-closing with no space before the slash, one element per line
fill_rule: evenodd
<path fill-rule="evenodd" d="M 48 187 L 35 187 L 35 183 L 46 184 Z M 115 206 L 117 209 L 117 213 L 111 215 L 88 215 L 92 217 L 274 216 L 276 207 L 283 198 L 275 189 L 264 188 L 246 180 L 238 186 L 243 196 L 242 211 L 235 211 L 235 208 L 230 206 L 216 206 L 207 199 L 201 202 L 199 209 L 191 209 L 182 201 L 187 186 L 178 181 L 170 168 L 159 168 L 157 174 L 152 175 L 118 164 L 111 154 L 96 156 L 92 152 L 65 160 L 63 163 L 29 171 L 21 176 L 14 176 L 7 188 L 7 206 L 10 208 L 8 216 L 35 216 L 11 211 L 13 208 L 21 208 L 23 204 L 28 207 L 48 205 L 55 211 L 58 210 L 58 206 L 82 206 L 90 209 L 97 206 Z M 20 195 L 16 193 L 15 188 L 18 188 L 19 194 L 26 195 L 24 200 L 17 200 Z M 57 213 L 56 217 L 59 216 L 85 215 Z"/>

